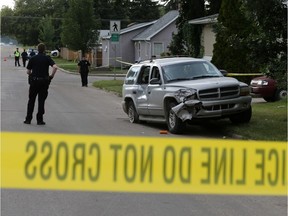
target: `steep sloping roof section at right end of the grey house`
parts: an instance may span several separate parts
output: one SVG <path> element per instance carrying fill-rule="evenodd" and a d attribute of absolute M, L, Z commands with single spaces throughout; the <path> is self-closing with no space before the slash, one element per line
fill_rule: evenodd
<path fill-rule="evenodd" d="M 141 41 L 141 40 L 149 41 L 151 40 L 153 36 L 158 34 L 160 31 L 162 31 L 172 22 L 174 22 L 178 17 L 179 17 L 179 12 L 177 10 L 169 11 L 160 19 L 158 19 L 153 25 L 151 25 L 149 28 L 147 28 L 146 30 L 138 34 L 132 40 L 133 41 Z"/>

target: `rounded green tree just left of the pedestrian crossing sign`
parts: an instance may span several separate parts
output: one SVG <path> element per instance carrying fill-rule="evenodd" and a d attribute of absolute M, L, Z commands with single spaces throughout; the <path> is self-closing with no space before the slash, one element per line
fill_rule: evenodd
<path fill-rule="evenodd" d="M 94 16 L 93 0 L 69 0 L 69 9 L 62 26 L 62 42 L 85 55 L 98 39 L 98 23 Z"/>

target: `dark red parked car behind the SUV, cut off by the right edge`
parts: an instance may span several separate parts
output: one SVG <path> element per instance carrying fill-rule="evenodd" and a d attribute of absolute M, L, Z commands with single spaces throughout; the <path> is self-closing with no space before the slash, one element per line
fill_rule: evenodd
<path fill-rule="evenodd" d="M 277 82 L 267 76 L 256 77 L 250 82 L 251 95 L 273 102 L 287 97 L 287 89 L 277 87 Z"/>

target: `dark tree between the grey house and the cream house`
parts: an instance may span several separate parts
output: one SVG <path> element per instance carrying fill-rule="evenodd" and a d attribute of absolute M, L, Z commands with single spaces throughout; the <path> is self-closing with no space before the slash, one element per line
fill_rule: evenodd
<path fill-rule="evenodd" d="M 182 2 L 176 23 L 178 33 L 173 35 L 172 43 L 169 45 L 169 50 L 173 55 L 201 56 L 202 26 L 190 25 L 188 21 L 204 15 L 204 0 Z"/>

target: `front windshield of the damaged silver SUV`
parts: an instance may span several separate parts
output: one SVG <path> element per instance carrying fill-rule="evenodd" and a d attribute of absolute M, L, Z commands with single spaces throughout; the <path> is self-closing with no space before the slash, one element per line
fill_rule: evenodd
<path fill-rule="evenodd" d="M 223 75 L 208 62 L 185 62 L 162 67 L 165 82 L 193 80 Z"/>

